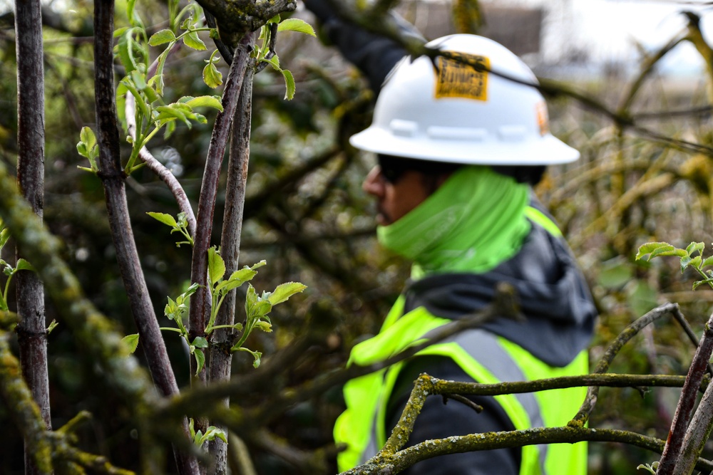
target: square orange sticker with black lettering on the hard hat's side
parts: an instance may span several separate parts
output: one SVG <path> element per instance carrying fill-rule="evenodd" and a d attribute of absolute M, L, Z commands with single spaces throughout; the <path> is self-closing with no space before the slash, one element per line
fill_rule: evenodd
<path fill-rule="evenodd" d="M 453 52 L 455 53 L 455 52 Z M 481 66 L 486 71 L 478 71 L 468 63 L 438 56 L 436 71 L 436 99 L 466 98 L 488 100 L 488 71 L 490 60 L 486 56 L 456 53 L 469 63 Z"/>

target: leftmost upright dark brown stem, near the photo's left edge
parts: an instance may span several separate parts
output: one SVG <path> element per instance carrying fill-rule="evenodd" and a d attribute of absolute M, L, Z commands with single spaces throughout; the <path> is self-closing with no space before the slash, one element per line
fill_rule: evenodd
<path fill-rule="evenodd" d="M 39 0 L 16 2 L 17 57 L 17 182 L 35 214 L 42 217 L 44 201 L 44 68 L 42 14 Z M 18 246 L 16 260 L 25 254 Z M 16 327 L 23 376 L 39 406 L 46 429 L 51 429 L 47 330 L 44 288 L 34 272 L 16 275 Z M 25 447 L 25 473 L 39 474 L 34 456 Z"/>

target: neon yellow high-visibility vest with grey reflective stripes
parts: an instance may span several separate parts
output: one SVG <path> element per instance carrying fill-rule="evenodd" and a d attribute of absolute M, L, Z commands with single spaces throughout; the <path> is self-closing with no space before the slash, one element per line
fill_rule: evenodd
<path fill-rule="evenodd" d="M 402 315 L 404 298 L 391 309 L 381 332 L 356 345 L 349 364 L 369 365 L 422 343 L 428 333 L 451 320 L 438 318 L 419 307 Z M 588 372 L 588 355 L 582 352 L 565 367 L 551 367 L 515 343 L 486 330 L 474 329 L 429 346 L 417 355 L 450 357 L 473 380 L 484 384 L 538 380 L 548 377 L 583 375 Z M 386 404 L 403 362 L 347 382 L 347 410 L 334 426 L 334 439 L 347 449 L 337 456 L 339 471 L 364 463 L 384 446 Z M 495 396 L 515 429 L 560 427 L 577 413 L 586 395 L 585 387 L 548 390 L 518 395 Z M 587 472 L 587 444 L 529 445 L 522 448 L 520 475 L 581 475 Z"/>

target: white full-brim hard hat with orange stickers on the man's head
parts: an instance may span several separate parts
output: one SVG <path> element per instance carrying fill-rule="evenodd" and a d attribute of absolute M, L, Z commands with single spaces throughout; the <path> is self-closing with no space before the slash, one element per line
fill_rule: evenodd
<path fill-rule="evenodd" d="M 465 53 L 491 71 L 537 83 L 520 58 L 482 36 L 458 34 L 427 46 Z M 468 165 L 553 165 L 579 152 L 549 132 L 540 92 L 493 73 L 438 57 L 406 57 L 391 71 L 374 120 L 349 142 L 384 155 Z"/>

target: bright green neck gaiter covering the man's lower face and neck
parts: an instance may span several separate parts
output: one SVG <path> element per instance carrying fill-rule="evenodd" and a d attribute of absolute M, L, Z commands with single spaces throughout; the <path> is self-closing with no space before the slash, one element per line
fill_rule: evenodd
<path fill-rule="evenodd" d="M 491 270 L 515 255 L 530 231 L 529 188 L 490 167 L 462 167 L 389 226 L 379 242 L 414 261 L 413 278 Z"/>

